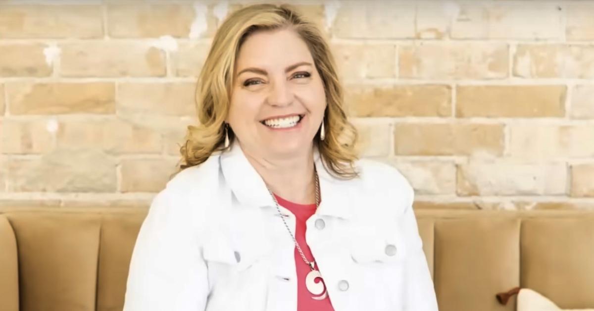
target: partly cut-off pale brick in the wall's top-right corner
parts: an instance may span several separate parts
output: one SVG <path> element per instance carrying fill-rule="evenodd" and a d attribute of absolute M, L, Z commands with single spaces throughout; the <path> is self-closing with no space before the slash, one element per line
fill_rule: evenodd
<path fill-rule="evenodd" d="M 567 4 L 567 40 L 594 40 L 594 4 L 588 1 Z"/>

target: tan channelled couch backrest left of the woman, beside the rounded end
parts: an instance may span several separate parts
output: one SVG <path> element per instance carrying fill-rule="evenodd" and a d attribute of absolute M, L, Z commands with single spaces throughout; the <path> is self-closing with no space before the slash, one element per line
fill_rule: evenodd
<path fill-rule="evenodd" d="M 18 245 L 20 310 L 122 310 L 129 260 L 146 211 L 6 212 Z"/>

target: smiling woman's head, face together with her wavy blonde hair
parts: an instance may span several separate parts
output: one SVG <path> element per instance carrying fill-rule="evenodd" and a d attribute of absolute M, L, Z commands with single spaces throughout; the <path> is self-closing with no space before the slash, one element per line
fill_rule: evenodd
<path fill-rule="evenodd" d="M 228 149 L 226 137 L 243 136 L 245 149 L 280 158 L 311 153 L 313 141 L 333 175 L 357 175 L 358 135 L 343 109 L 334 58 L 320 31 L 289 6 L 252 5 L 230 15 L 213 39 L 196 98 L 200 125 L 188 127 L 181 169 Z"/>

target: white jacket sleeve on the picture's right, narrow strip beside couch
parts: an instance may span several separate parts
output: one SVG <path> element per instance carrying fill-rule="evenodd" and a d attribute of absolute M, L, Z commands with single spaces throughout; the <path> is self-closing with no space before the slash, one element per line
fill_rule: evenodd
<path fill-rule="evenodd" d="M 405 307 L 406 311 L 437 311 L 437 298 L 429 272 L 429 265 L 423 252 L 423 242 L 412 208 L 415 191 L 409 184 L 409 200 L 402 215 L 402 226 L 406 235 L 407 258 L 405 268 Z"/>

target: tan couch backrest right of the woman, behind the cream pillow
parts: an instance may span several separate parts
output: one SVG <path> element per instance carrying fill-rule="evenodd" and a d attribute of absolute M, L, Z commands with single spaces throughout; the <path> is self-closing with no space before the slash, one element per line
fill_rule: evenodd
<path fill-rule="evenodd" d="M 440 310 L 515 310 L 531 288 L 562 309 L 594 307 L 594 211 L 417 211 Z M 432 235 L 432 238 L 431 238 Z"/>

